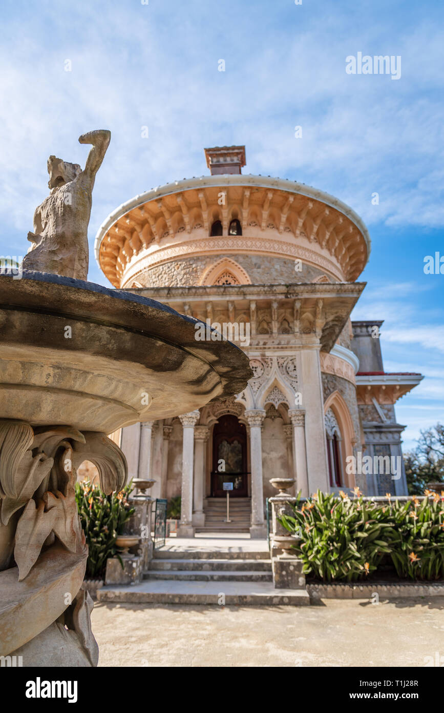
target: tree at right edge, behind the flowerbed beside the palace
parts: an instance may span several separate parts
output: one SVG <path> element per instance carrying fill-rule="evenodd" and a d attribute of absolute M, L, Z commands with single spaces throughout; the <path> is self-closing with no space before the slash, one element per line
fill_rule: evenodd
<path fill-rule="evenodd" d="M 443 483 L 444 489 L 444 425 L 421 431 L 417 443 L 404 454 L 408 492 L 422 495 L 427 483 Z"/>

